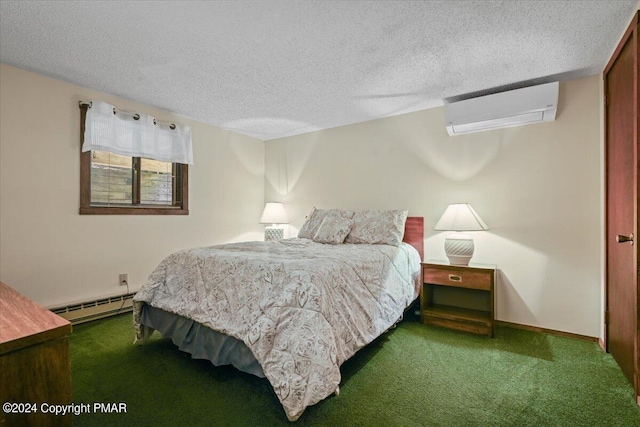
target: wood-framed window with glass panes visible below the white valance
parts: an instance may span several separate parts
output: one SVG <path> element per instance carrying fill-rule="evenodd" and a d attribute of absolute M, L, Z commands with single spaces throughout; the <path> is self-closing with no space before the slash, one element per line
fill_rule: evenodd
<path fill-rule="evenodd" d="M 87 107 L 81 106 L 81 144 Z M 80 155 L 80 214 L 188 215 L 188 165 L 91 150 Z"/>

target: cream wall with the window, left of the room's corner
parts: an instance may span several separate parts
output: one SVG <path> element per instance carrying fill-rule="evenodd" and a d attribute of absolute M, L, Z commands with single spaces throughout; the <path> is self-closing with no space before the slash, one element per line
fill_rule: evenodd
<path fill-rule="evenodd" d="M 169 253 L 262 239 L 264 143 L 0 64 L 0 279 L 48 306 L 137 290 Z M 79 215 L 79 100 L 193 130 L 188 216 Z"/>

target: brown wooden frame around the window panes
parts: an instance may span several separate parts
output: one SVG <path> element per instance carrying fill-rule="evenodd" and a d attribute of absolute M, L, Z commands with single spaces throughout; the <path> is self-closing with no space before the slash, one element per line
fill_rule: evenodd
<path fill-rule="evenodd" d="M 87 117 L 87 105 L 80 105 L 80 147 L 84 143 L 84 127 Z M 136 157 L 134 157 L 136 159 Z M 140 161 L 134 161 L 132 170 L 140 173 Z M 176 165 L 173 165 L 174 172 Z M 181 165 L 182 188 L 174 188 L 172 197 L 175 203 L 176 191 L 182 194 L 182 205 L 176 206 L 91 206 L 91 151 L 80 150 L 80 215 L 189 215 L 189 165 Z M 135 172 L 134 172 L 135 173 Z M 140 202 L 140 189 L 133 190 L 132 202 Z M 136 200 L 137 199 L 137 200 Z"/>

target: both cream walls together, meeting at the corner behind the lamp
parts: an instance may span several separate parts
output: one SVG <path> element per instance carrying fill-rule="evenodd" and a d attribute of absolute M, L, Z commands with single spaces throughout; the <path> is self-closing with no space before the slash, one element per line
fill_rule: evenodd
<path fill-rule="evenodd" d="M 0 65 L 0 279 L 50 307 L 121 293 L 119 273 L 135 290 L 175 250 L 261 239 L 265 200 L 286 203 L 290 235 L 312 206 L 407 208 L 444 259 L 433 226 L 463 201 L 491 227 L 474 261 L 501 270 L 498 319 L 599 336 L 599 80 L 562 83 L 552 123 L 449 137 L 436 108 L 265 145 Z M 192 127 L 190 215 L 78 214 L 81 99 Z"/>

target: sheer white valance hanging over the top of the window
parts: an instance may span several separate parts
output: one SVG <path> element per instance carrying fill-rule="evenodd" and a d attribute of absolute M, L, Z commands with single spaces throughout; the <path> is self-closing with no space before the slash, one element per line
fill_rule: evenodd
<path fill-rule="evenodd" d="M 92 101 L 87 109 L 82 151 L 91 150 L 193 164 L 189 126 L 163 123 L 145 114 L 125 113 L 102 101 Z"/>

